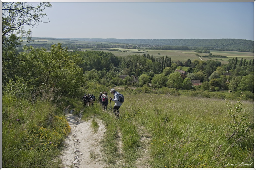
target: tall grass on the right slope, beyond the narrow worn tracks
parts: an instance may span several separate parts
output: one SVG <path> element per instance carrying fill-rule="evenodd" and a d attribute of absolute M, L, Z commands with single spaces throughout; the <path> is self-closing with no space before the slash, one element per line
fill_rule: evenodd
<path fill-rule="evenodd" d="M 152 167 L 253 167 L 253 131 L 247 140 L 227 141 L 224 122 L 230 122 L 230 118 L 224 100 L 154 94 L 125 97 L 121 112 L 131 112 L 130 105 L 140 108 L 142 114 L 135 117 L 134 123 L 152 134 Z M 253 102 L 242 104 L 253 121 Z M 225 166 L 227 162 L 250 165 Z"/>

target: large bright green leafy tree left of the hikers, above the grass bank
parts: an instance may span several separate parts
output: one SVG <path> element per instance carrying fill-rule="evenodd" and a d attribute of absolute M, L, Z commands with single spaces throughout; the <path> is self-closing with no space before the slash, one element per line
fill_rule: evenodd
<path fill-rule="evenodd" d="M 26 51 L 18 56 L 24 61 L 19 65 L 18 76 L 35 87 L 41 84 L 60 87 L 60 92 L 75 95 L 76 89 L 84 83 L 81 57 L 68 55 L 67 48 L 61 44 L 52 45 L 51 52 L 45 49 L 34 49 L 32 46 L 25 47 Z"/>

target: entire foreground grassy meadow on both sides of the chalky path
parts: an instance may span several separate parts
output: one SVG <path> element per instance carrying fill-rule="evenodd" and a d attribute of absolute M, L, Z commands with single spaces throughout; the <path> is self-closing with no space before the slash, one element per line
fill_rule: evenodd
<path fill-rule="evenodd" d="M 3 167 L 62 167 L 59 154 L 70 132 L 67 108 L 81 113 L 84 121 L 92 119 L 95 132 L 97 120 L 103 120 L 102 160 L 110 168 L 254 167 L 253 130 L 241 141 L 227 140 L 232 131 L 225 100 L 118 91 L 125 96 L 120 119 L 112 114 L 114 102 L 107 111 L 96 102 L 81 112 L 80 98 L 53 102 L 4 95 Z M 242 113 L 250 114 L 247 121 L 253 122 L 253 101 L 241 104 Z"/>

